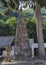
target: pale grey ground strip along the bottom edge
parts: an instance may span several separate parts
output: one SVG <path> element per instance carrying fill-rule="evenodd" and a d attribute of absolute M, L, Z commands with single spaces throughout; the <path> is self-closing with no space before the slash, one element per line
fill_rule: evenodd
<path fill-rule="evenodd" d="M 0 65 L 46 65 L 46 60 L 30 60 L 30 61 L 14 61 L 14 62 L 1 62 Z"/>

